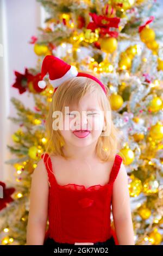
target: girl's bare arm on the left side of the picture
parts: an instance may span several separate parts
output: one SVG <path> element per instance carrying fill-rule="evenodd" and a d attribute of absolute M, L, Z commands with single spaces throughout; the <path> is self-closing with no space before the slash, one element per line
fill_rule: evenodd
<path fill-rule="evenodd" d="M 43 245 L 48 212 L 48 175 L 41 159 L 32 176 L 26 245 Z"/>

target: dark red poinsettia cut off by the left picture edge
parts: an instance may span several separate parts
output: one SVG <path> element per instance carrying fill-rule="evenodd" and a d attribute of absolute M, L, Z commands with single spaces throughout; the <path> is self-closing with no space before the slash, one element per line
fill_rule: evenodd
<path fill-rule="evenodd" d="M 14 193 L 15 188 L 14 187 L 6 188 L 5 183 L 0 181 L 0 191 L 1 191 L 0 210 L 2 210 L 3 208 L 5 208 L 7 206 L 7 203 L 14 201 L 11 198 L 11 194 Z"/>

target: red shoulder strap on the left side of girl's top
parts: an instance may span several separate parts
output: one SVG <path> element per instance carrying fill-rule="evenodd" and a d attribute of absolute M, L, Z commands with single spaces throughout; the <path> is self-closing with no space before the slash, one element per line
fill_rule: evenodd
<path fill-rule="evenodd" d="M 51 186 L 52 182 L 55 181 L 51 157 L 49 156 L 49 154 L 44 153 L 41 155 L 41 158 L 43 159 L 43 162 L 44 162 L 46 170 L 47 170 L 49 186 Z"/>

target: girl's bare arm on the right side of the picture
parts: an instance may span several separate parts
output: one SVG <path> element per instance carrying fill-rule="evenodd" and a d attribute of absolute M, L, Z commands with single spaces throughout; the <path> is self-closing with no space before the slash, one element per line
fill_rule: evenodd
<path fill-rule="evenodd" d="M 135 245 L 128 190 L 128 176 L 123 163 L 121 163 L 121 168 L 113 185 L 112 215 L 118 244 Z"/>

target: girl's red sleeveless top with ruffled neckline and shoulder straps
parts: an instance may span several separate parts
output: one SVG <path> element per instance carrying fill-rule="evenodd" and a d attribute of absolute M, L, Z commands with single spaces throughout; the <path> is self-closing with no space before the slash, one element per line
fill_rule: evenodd
<path fill-rule="evenodd" d="M 45 155 L 45 157 L 43 157 Z M 111 236 L 118 245 L 116 233 L 110 225 L 112 186 L 121 167 L 122 157 L 115 156 L 107 184 L 59 185 L 49 155 L 41 155 L 48 173 L 48 221 L 46 239 L 59 243 L 104 242 Z"/>

